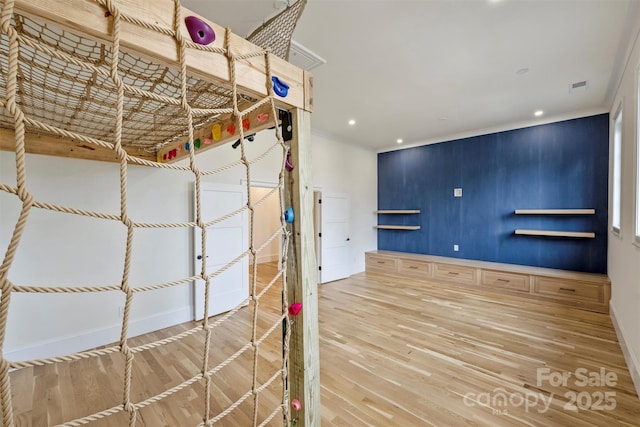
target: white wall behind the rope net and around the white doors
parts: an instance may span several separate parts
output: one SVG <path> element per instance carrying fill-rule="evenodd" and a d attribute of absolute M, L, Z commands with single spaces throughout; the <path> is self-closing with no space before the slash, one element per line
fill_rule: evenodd
<path fill-rule="evenodd" d="M 271 146 L 265 133 L 249 143 L 248 157 Z M 276 183 L 281 151 L 252 165 L 251 180 Z M 198 156 L 201 169 L 237 160 L 229 145 Z M 313 135 L 314 186 L 351 195 L 352 271 L 364 270 L 364 251 L 376 248 L 376 154 Z M 27 155 L 28 187 L 36 200 L 119 213 L 118 166 L 112 163 Z M 238 166 L 206 180 L 239 184 Z M 184 222 L 193 215 L 192 175 L 187 172 L 131 166 L 128 214 L 139 222 Z M 15 185 L 14 154 L 0 152 L 0 183 Z M 0 192 L 2 256 L 19 213 L 19 200 Z M 363 220 L 364 219 L 364 220 Z M 118 284 L 122 277 L 126 229 L 118 223 L 31 212 L 9 279 L 17 285 L 82 286 Z M 192 274 L 193 242 L 188 229 L 136 229 L 133 286 L 162 283 Z M 191 320 L 190 285 L 138 294 L 130 335 Z M 100 294 L 14 294 L 4 352 L 10 360 L 71 353 L 114 342 L 120 330 L 121 292 Z"/>

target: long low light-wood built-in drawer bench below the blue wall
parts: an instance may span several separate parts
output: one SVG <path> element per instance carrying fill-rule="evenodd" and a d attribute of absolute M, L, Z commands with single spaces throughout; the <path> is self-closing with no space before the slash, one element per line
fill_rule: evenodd
<path fill-rule="evenodd" d="M 603 274 L 392 251 L 367 252 L 365 260 L 367 273 L 406 276 L 609 312 L 611 284 Z"/>

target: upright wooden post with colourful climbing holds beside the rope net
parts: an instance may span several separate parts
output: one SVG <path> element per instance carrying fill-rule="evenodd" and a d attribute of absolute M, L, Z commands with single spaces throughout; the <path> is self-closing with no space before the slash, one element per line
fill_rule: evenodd
<path fill-rule="evenodd" d="M 289 401 L 301 402 L 291 410 L 296 427 L 320 426 L 320 343 L 318 333 L 318 266 L 313 230 L 313 175 L 311 173 L 311 113 L 291 110 L 294 169 L 285 177 L 285 200 L 295 213 L 287 257 L 289 303 L 302 303 L 291 326 Z"/>

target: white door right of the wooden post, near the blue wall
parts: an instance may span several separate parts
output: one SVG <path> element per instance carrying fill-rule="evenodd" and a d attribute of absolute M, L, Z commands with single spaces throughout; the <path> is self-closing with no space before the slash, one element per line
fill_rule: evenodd
<path fill-rule="evenodd" d="M 322 193 L 320 283 L 349 277 L 349 195 Z"/>

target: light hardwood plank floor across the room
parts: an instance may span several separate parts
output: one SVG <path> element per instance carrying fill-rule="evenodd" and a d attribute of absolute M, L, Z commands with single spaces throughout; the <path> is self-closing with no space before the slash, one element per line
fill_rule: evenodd
<path fill-rule="evenodd" d="M 265 264 L 261 271 L 272 274 L 274 268 Z M 277 299 L 274 292 L 272 311 Z M 640 426 L 640 399 L 606 314 L 365 273 L 322 285 L 319 310 L 323 426 Z M 247 338 L 248 324 L 247 310 L 217 330 L 212 361 Z M 136 343 L 191 326 L 148 334 Z M 135 400 L 197 372 L 198 340 L 142 353 L 135 366 L 142 379 Z M 261 350 L 261 379 L 277 369 L 278 345 L 274 338 Z M 252 360 L 247 355 L 221 371 L 214 409 L 244 392 Z M 54 425 L 116 405 L 121 366 L 114 355 L 14 372 L 18 425 Z M 571 376 L 566 385 L 552 385 L 547 377 L 538 381 L 539 369 L 554 379 L 563 372 Z M 582 387 L 583 371 L 604 372 L 609 383 Z M 261 394 L 261 416 L 279 402 L 281 388 L 272 388 Z M 139 425 L 196 425 L 202 419 L 202 393 L 196 385 L 145 408 Z M 571 393 L 576 410 L 565 408 Z M 221 425 L 251 425 L 252 402 L 239 409 Z M 270 425 L 281 421 L 276 417 Z M 126 425 L 126 417 L 91 425 Z"/>

